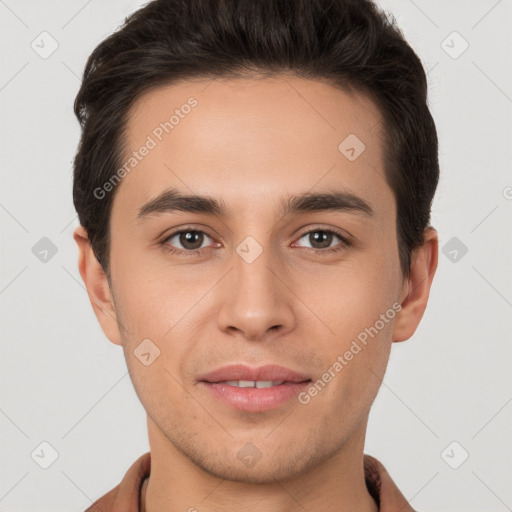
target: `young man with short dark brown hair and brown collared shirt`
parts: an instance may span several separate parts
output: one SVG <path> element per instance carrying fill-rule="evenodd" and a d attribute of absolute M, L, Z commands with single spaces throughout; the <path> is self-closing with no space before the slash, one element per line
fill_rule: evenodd
<path fill-rule="evenodd" d="M 88 510 L 412 510 L 363 448 L 437 267 L 426 93 L 369 1 L 156 0 L 94 50 L 74 238 L 150 452 Z"/>

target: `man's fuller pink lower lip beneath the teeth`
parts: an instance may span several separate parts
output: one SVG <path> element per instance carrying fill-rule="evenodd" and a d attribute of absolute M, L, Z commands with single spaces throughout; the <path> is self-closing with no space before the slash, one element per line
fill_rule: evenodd
<path fill-rule="evenodd" d="M 294 398 L 297 399 L 297 395 L 304 391 L 310 383 L 311 381 L 286 382 L 270 388 L 237 388 L 225 382 L 200 382 L 222 402 L 247 412 L 276 409 Z"/>

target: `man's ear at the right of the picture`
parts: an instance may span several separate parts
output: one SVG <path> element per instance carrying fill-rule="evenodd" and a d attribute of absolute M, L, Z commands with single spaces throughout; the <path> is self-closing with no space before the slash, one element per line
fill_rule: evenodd
<path fill-rule="evenodd" d="M 402 310 L 396 315 L 393 341 L 408 340 L 416 331 L 427 307 L 437 269 L 439 240 L 433 227 L 425 230 L 424 243 L 411 255 L 411 272 L 401 293 Z"/>

